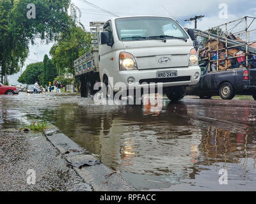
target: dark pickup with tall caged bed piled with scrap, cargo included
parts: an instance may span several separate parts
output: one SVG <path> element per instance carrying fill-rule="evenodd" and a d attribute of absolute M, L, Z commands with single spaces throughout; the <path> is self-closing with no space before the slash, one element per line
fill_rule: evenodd
<path fill-rule="evenodd" d="M 244 17 L 195 34 L 202 73 L 186 94 L 256 99 L 256 18 Z"/>

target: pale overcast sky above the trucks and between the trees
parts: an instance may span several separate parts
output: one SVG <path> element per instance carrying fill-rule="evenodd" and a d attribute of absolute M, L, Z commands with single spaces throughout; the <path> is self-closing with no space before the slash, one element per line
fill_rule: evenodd
<path fill-rule="evenodd" d="M 161 15 L 175 18 L 184 27 L 193 28 L 193 22 L 185 22 L 185 19 L 194 17 L 195 15 L 205 15 L 198 22 L 198 29 L 206 30 L 209 27 L 230 22 L 244 16 L 256 17 L 256 1 L 255 0 L 88 0 L 105 10 L 111 11 L 118 16 L 129 15 Z M 93 8 L 83 0 L 72 0 L 82 11 L 81 23 L 89 31 L 89 23 L 91 21 L 106 21 L 112 16 L 108 13 Z M 227 18 L 220 18 L 219 13 L 223 7 L 220 4 L 227 4 Z M 45 45 L 38 41 L 37 45 L 30 47 L 29 57 L 25 62 L 24 68 L 33 62 L 43 61 L 44 55 L 49 54 L 52 44 Z M 9 77 L 10 84 L 19 84 L 17 78 L 20 73 Z"/>

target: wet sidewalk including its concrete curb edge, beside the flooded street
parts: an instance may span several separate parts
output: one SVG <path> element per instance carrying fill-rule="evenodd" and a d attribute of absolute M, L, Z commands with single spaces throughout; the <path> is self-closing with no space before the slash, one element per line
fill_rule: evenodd
<path fill-rule="evenodd" d="M 35 184 L 28 184 L 31 178 L 28 170 L 35 171 Z M 0 129 L 0 191 L 136 189 L 51 126 L 44 134 Z"/>

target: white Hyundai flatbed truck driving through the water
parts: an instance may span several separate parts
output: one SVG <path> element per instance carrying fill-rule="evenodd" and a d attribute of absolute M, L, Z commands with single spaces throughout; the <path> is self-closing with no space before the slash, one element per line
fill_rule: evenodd
<path fill-rule="evenodd" d="M 92 50 L 74 61 L 81 96 L 95 93 L 103 82 L 120 91 L 116 84 L 136 84 L 136 89 L 163 83 L 172 101 L 185 96 L 186 86 L 200 80 L 200 67 L 192 29 L 186 31 L 170 17 L 115 17 L 91 22 Z M 109 80 L 111 78 L 111 80 Z"/>

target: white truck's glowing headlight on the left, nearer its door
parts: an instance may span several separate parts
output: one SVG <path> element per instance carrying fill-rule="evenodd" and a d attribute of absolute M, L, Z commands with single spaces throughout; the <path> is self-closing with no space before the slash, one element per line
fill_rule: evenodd
<path fill-rule="evenodd" d="M 137 68 L 136 61 L 132 54 L 129 52 L 121 52 L 119 56 L 120 70 L 135 70 Z"/>

